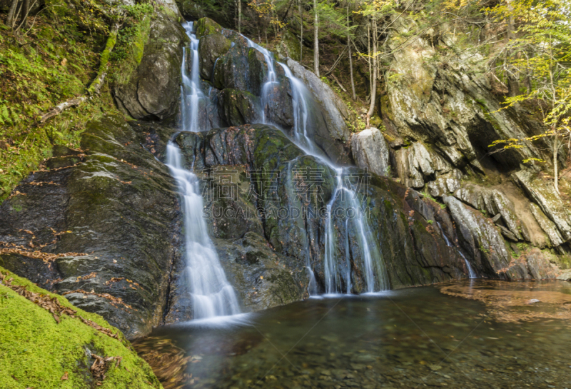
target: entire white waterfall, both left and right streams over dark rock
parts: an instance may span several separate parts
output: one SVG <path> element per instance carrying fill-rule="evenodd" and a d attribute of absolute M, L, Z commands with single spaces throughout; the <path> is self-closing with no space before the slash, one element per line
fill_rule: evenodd
<path fill-rule="evenodd" d="M 201 91 L 201 81 L 199 75 L 198 39 L 193 34 L 192 22 L 183 24 L 186 33 L 191 39 L 191 45 L 183 51 L 183 84 L 181 86 L 181 112 L 183 131 L 201 131 L 198 126 L 198 106 L 201 98 L 204 97 Z M 244 37 L 246 38 L 246 37 Z M 246 38 L 248 47 L 254 48 L 263 54 L 268 67 L 268 74 L 264 80 L 261 91 L 261 118 L 263 123 L 267 123 L 266 108 L 268 98 L 271 96 L 271 89 L 279 84 L 276 77 L 273 54 Z M 191 56 L 191 71 L 188 72 L 187 56 Z M 323 151 L 315 145 L 308 133 L 308 121 L 310 121 L 310 103 L 313 103 L 312 95 L 303 83 L 293 76 L 292 72 L 285 64 L 278 64 L 282 67 L 287 77 L 292 91 L 293 105 L 293 141 L 310 156 L 313 156 L 325 164 L 336 173 L 336 186 L 332 198 L 327 204 L 327 216 L 325 220 L 325 291 L 327 293 L 350 293 L 351 283 L 351 253 L 349 243 L 349 228 L 353 227 L 356 236 L 356 246 L 363 263 L 363 284 L 364 291 L 383 291 L 388 289 L 388 276 L 376 238 L 368 225 L 365 213 L 360 207 L 358 191 L 352 187 L 344 168 L 334 166 L 325 156 Z M 221 268 L 220 261 L 213 248 L 213 243 L 208 238 L 206 223 L 202 215 L 202 198 L 198 191 L 198 178 L 191 171 L 186 171 L 181 166 L 181 155 L 178 147 L 174 143 L 169 143 L 167 148 L 167 163 L 181 191 L 183 197 L 183 213 L 186 236 L 186 263 L 188 278 L 190 280 L 191 294 L 193 298 L 193 308 L 195 318 L 211 317 L 215 315 L 231 315 L 238 313 L 236 294 L 226 280 L 226 275 Z M 342 196 L 340 198 L 340 196 Z M 345 200 L 348 197 L 348 201 Z M 341 203 L 349 206 L 354 211 L 354 217 L 338 220 L 335 215 L 334 206 Z M 335 222 L 345 223 L 345 256 L 338 258 L 338 238 Z M 310 266 L 309 242 L 305 239 L 306 269 L 310 278 L 308 292 L 310 295 L 317 293 L 317 284 L 313 269 Z M 347 271 L 341 275 L 339 273 L 338 261 L 344 261 Z M 343 282 L 345 288 L 343 290 Z"/>

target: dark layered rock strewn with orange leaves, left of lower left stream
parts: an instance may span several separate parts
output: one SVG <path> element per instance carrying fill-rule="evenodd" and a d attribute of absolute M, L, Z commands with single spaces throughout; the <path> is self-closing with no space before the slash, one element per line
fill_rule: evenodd
<path fill-rule="evenodd" d="M 66 293 L 128 338 L 161 323 L 181 228 L 176 185 L 141 146 L 159 136 L 137 129 L 114 117 L 90 123 L 84 151 L 56 150 L 49 170 L 0 206 L 0 241 L 19 249 L 0 254 L 0 266 Z"/>

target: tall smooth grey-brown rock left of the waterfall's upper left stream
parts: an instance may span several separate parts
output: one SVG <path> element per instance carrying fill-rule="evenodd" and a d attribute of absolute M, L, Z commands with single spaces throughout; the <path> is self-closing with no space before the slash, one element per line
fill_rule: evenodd
<path fill-rule="evenodd" d="M 180 105 L 182 49 L 187 42 L 178 19 L 158 12 L 151 21 L 141 63 L 128 83 L 113 91 L 118 107 L 137 119 L 174 116 Z"/>

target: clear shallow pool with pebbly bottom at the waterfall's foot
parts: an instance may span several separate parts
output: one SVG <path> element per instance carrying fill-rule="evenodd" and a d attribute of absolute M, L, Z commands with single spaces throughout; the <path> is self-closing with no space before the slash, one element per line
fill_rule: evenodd
<path fill-rule="evenodd" d="M 571 388 L 571 283 L 469 280 L 156 329 L 168 388 Z"/>

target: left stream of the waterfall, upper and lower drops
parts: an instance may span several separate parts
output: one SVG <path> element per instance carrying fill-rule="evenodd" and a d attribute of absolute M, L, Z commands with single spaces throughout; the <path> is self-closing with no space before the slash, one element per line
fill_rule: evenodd
<path fill-rule="evenodd" d="M 192 32 L 192 22 L 183 26 L 191 39 L 192 69 L 189 77 L 186 61 L 183 61 L 182 128 L 196 132 L 201 129 L 198 128 L 198 99 L 202 96 L 198 74 L 198 40 Z M 186 49 L 183 55 L 186 59 Z M 186 277 L 191 291 L 193 318 L 240 313 L 236 293 L 226 279 L 216 248 L 208 236 L 203 218 L 200 180 L 196 174 L 183 168 L 181 151 L 172 141 L 166 146 L 166 165 L 178 184 L 182 200 Z"/>

